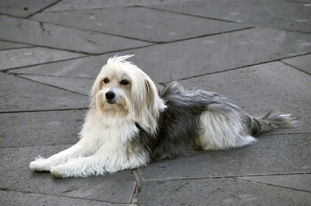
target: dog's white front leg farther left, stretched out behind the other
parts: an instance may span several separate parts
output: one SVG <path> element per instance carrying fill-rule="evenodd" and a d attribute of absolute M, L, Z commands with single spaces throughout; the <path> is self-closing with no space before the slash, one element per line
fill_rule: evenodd
<path fill-rule="evenodd" d="M 81 139 L 77 144 L 71 146 L 68 149 L 63 150 L 60 153 L 52 155 L 51 157 L 44 159 L 40 156 L 35 161 L 30 162 L 30 169 L 33 171 L 50 171 L 52 166 L 65 163 L 67 160 L 72 158 L 84 157 L 90 155 L 91 151 L 87 148 L 86 144 L 83 144 Z"/>

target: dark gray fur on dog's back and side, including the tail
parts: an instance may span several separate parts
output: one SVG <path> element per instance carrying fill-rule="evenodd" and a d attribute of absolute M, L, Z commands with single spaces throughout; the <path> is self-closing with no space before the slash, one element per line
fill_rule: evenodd
<path fill-rule="evenodd" d="M 245 114 L 228 98 L 203 90 L 185 91 L 182 85 L 172 82 L 159 92 L 167 108 L 158 120 L 159 132 L 150 137 L 139 125 L 140 133 L 134 141 L 145 145 L 151 160 L 185 157 L 200 150 L 197 139 L 203 133 L 200 116 L 209 111 L 214 114 L 230 114 L 243 120 L 241 135 L 257 136 L 276 128 L 291 127 L 295 119 L 291 115 L 272 114 L 252 117 Z M 202 133 L 201 133 L 202 131 Z M 138 142 L 137 142 L 138 143 Z"/>

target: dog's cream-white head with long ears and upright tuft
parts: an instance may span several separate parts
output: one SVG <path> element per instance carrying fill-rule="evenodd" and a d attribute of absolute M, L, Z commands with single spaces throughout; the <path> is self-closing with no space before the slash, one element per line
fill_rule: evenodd
<path fill-rule="evenodd" d="M 153 81 L 144 71 L 126 59 L 133 55 L 114 56 L 101 69 L 91 90 L 91 108 L 102 113 L 118 112 L 136 121 L 151 134 L 157 119 L 166 108 Z"/>

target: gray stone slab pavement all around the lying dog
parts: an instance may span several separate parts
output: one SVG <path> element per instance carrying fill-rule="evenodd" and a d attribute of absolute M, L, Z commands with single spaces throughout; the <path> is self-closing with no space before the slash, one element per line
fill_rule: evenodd
<path fill-rule="evenodd" d="M 311 0 L 0 1 L 1 206 L 311 206 Z M 100 177 L 29 162 L 77 142 L 106 60 L 131 61 L 296 128 Z"/>

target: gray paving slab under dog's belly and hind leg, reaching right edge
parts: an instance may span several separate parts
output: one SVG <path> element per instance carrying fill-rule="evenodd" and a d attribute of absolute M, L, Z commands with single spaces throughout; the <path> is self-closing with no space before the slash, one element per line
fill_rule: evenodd
<path fill-rule="evenodd" d="M 262 136 L 239 149 L 205 151 L 139 169 L 143 180 L 272 175 L 310 172 L 311 134 Z"/>

